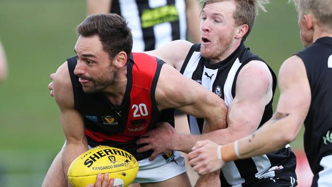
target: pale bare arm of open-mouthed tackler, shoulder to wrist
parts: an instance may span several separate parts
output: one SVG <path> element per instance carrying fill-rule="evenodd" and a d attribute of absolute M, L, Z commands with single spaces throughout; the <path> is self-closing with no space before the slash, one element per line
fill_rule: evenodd
<path fill-rule="evenodd" d="M 272 76 L 268 67 L 263 62 L 251 61 L 241 69 L 236 81 L 235 98 L 227 114 L 227 128 L 200 136 L 179 134 L 179 137 L 192 139 L 195 143 L 203 139 L 210 139 L 221 145 L 234 142 L 257 129 L 265 105 L 271 98 Z M 191 151 L 191 148 L 186 151 Z"/>

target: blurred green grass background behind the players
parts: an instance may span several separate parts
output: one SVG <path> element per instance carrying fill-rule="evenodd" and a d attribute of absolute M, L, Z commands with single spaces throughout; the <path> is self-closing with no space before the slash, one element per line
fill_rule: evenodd
<path fill-rule="evenodd" d="M 246 45 L 277 73 L 302 49 L 297 13 L 288 0 L 272 0 L 266 8 Z M 0 186 L 40 186 L 62 147 L 49 75 L 74 54 L 75 28 L 85 16 L 82 0 L 0 1 L 0 39 L 9 63 L 9 78 L 0 84 Z M 302 141 L 293 147 L 302 149 Z"/>

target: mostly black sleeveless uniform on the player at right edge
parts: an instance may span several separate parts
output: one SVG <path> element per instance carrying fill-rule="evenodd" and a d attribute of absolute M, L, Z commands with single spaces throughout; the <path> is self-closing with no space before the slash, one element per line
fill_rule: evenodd
<path fill-rule="evenodd" d="M 311 105 L 304 121 L 304 150 L 314 173 L 312 186 L 332 186 L 332 37 L 296 54 L 306 69 Z"/>

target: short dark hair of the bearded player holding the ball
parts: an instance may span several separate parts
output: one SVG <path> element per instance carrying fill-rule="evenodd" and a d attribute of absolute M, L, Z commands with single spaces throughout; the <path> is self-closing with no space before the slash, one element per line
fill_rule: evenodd
<path fill-rule="evenodd" d="M 77 33 L 84 37 L 98 35 L 110 59 L 121 51 L 130 56 L 133 47 L 131 30 L 125 19 L 117 14 L 92 14 L 77 26 Z"/>

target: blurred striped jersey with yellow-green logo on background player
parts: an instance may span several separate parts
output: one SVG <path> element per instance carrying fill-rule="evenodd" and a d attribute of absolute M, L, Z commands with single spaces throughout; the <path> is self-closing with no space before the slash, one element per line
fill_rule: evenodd
<path fill-rule="evenodd" d="M 113 0 L 111 13 L 126 19 L 133 35 L 133 52 L 151 51 L 186 39 L 184 0 Z"/>

